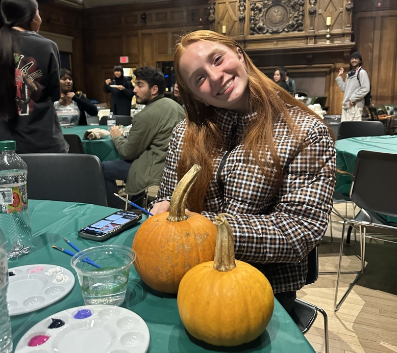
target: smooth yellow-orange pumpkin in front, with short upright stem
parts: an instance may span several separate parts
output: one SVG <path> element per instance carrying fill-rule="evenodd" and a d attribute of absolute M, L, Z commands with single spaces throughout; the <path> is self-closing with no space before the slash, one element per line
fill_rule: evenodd
<path fill-rule="evenodd" d="M 182 278 L 178 310 L 193 337 L 215 346 L 238 346 L 266 329 L 273 314 L 273 290 L 262 272 L 235 261 L 233 234 L 222 215 L 215 224 L 215 260 Z"/>

